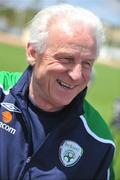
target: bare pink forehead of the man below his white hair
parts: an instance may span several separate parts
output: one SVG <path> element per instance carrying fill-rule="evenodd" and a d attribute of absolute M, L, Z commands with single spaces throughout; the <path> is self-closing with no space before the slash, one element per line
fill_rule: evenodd
<path fill-rule="evenodd" d="M 55 22 L 55 24 L 52 24 L 50 27 L 50 31 L 49 31 L 49 45 L 52 45 L 51 48 L 53 47 L 53 49 L 55 48 L 70 48 L 79 52 L 92 52 L 93 48 L 94 48 L 94 44 L 95 44 L 95 39 L 93 34 L 91 33 L 91 29 L 87 30 L 86 27 L 84 26 L 79 26 L 79 28 L 81 29 L 81 33 L 82 35 L 80 35 L 80 30 L 78 31 L 78 27 L 77 30 L 73 28 L 73 26 L 71 27 L 69 25 L 69 23 L 67 23 L 66 21 L 62 21 L 62 25 L 64 25 L 63 27 L 60 26 L 61 23 L 57 23 Z M 59 36 L 58 36 L 59 33 Z M 78 36 L 81 39 L 78 40 Z M 56 40 L 57 37 L 57 40 Z M 64 38 L 64 40 L 63 40 Z M 74 41 L 73 41 L 74 40 Z M 89 40 L 89 41 L 88 41 Z M 54 43 L 55 41 L 55 43 Z M 88 43 L 89 42 L 89 43 Z M 51 44 L 52 43 L 52 44 Z M 56 44 L 56 45 L 55 45 Z M 57 50 L 57 49 L 56 49 Z M 94 51 L 95 52 L 95 51 Z"/>

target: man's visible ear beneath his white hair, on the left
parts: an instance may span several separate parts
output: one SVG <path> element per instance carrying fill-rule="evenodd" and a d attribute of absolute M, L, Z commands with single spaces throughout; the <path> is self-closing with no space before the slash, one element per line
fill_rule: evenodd
<path fill-rule="evenodd" d="M 26 55 L 28 63 L 33 66 L 36 63 L 36 51 L 30 43 L 27 44 Z"/>

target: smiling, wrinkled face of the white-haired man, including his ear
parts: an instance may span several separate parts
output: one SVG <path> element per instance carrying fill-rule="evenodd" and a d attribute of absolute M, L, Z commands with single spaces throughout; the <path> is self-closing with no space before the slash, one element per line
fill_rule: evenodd
<path fill-rule="evenodd" d="M 88 27 L 75 28 L 66 33 L 57 25 L 51 27 L 42 55 L 28 46 L 29 56 L 35 60 L 30 96 L 45 111 L 68 105 L 90 79 L 96 57 L 95 39 Z"/>

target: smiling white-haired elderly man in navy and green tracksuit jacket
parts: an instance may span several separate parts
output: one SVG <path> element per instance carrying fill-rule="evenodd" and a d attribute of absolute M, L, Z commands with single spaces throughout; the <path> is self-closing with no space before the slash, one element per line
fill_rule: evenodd
<path fill-rule="evenodd" d="M 109 179 L 115 145 L 85 100 L 103 39 L 91 12 L 58 5 L 32 20 L 29 67 L 1 73 L 0 179 Z M 7 87 L 6 87 L 7 86 Z"/>

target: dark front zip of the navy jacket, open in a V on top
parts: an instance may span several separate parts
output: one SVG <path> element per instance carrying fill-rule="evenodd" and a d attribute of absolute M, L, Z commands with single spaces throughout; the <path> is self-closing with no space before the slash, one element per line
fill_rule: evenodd
<path fill-rule="evenodd" d="M 28 140 L 28 155 L 27 155 L 27 159 L 25 160 L 24 164 L 23 164 L 23 167 L 20 171 L 20 174 L 17 178 L 17 180 L 23 180 L 24 179 L 24 176 L 26 174 L 26 172 L 30 169 L 31 165 L 32 165 L 32 162 L 34 161 L 36 155 L 39 153 L 40 151 L 40 148 L 43 146 L 43 144 L 45 143 L 45 141 L 49 138 L 50 135 L 53 134 L 53 131 L 48 134 L 46 136 L 46 138 L 44 139 L 44 141 L 41 143 L 41 145 L 39 146 L 39 148 L 37 148 L 37 150 L 33 153 L 33 144 L 32 144 L 32 130 L 31 130 L 31 124 L 29 121 L 26 120 L 26 117 L 28 119 L 31 119 L 30 117 L 30 114 L 28 113 L 27 111 L 27 105 L 25 104 L 25 101 L 22 99 L 21 97 L 21 94 L 20 94 L 20 97 L 21 97 L 21 102 L 19 100 L 19 97 L 17 97 L 17 95 L 14 93 L 14 91 L 11 90 L 11 94 L 12 96 L 15 98 L 16 102 L 17 102 L 17 105 L 18 105 L 18 108 L 20 108 L 20 110 L 22 111 L 22 118 L 23 118 L 23 121 L 20 123 L 23 123 L 24 122 L 24 127 L 25 129 L 27 130 L 27 140 Z M 75 117 L 74 117 L 75 118 Z M 19 118 L 18 118 L 19 119 Z M 69 119 L 67 119 L 67 122 L 69 122 Z M 64 122 L 65 124 L 67 123 L 66 121 Z M 62 123 L 59 127 L 59 129 L 61 129 L 64 125 L 64 123 Z M 58 130 L 58 127 L 56 128 L 55 131 Z M 54 132 L 55 132 L 54 131 Z"/>

